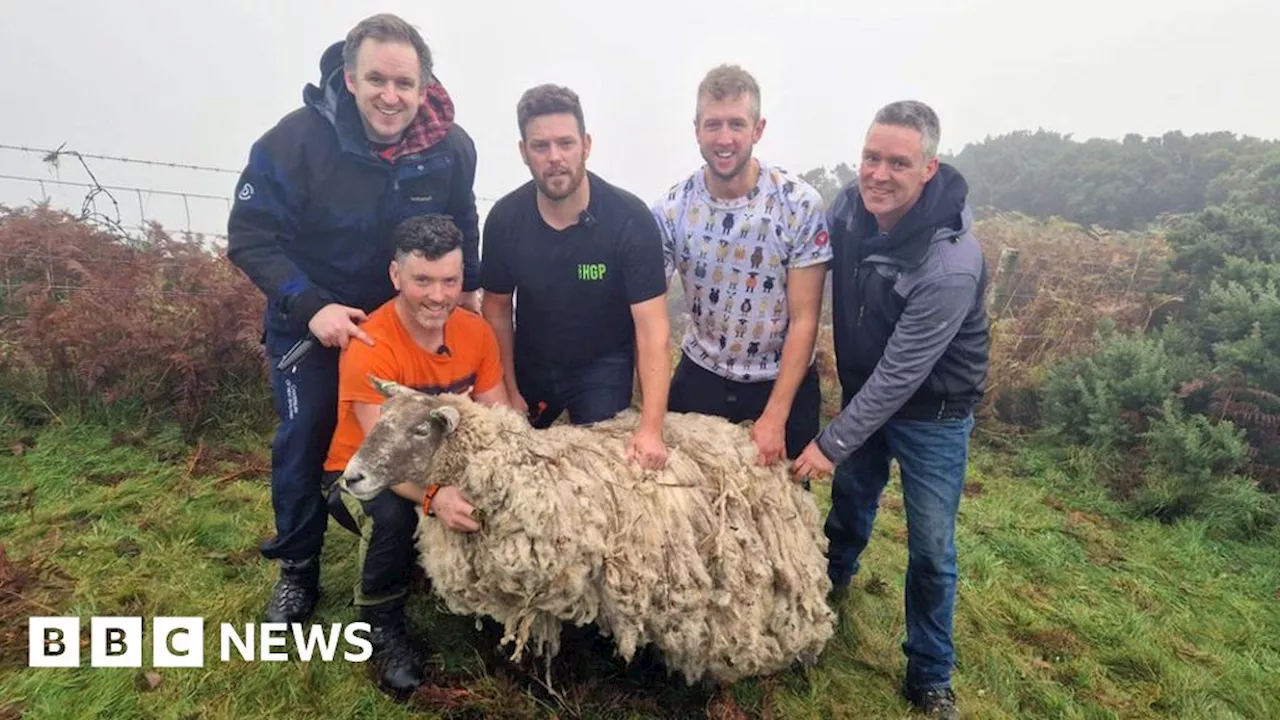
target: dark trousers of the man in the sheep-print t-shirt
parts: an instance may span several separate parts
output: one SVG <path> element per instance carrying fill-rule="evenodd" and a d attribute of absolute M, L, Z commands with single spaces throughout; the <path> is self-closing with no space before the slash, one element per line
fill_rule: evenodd
<path fill-rule="evenodd" d="M 731 423 L 755 420 L 764 413 L 773 392 L 773 380 L 742 383 L 722 378 L 689 359 L 680 356 L 676 374 L 671 378 L 667 409 L 672 413 L 701 413 L 718 415 Z M 787 457 L 796 459 L 818 436 L 818 414 L 822 410 L 822 392 L 818 369 L 813 365 L 800 380 L 796 397 L 787 415 Z"/>

